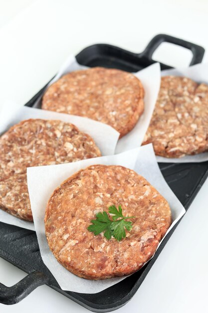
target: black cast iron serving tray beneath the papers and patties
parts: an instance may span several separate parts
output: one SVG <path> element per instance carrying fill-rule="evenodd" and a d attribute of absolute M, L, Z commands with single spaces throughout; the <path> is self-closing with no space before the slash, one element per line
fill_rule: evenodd
<path fill-rule="evenodd" d="M 193 52 L 191 65 L 200 63 L 203 59 L 205 52 L 203 47 L 165 34 L 155 36 L 146 49 L 139 54 L 109 44 L 94 44 L 83 49 L 76 55 L 76 59 L 80 64 L 87 66 L 105 66 L 131 72 L 138 71 L 155 62 L 152 59 L 153 52 L 163 41 L 190 49 Z M 161 68 L 167 69 L 170 66 L 161 63 Z M 25 105 L 32 106 L 44 88 Z M 160 163 L 160 169 L 187 210 L 208 176 L 208 161 L 181 164 Z M 6 287 L 0 283 L 0 302 L 4 304 L 16 303 L 37 286 L 47 284 L 94 312 L 115 310 L 127 303 L 135 294 L 176 226 L 165 237 L 154 257 L 142 269 L 99 293 L 85 294 L 64 291 L 60 288 L 41 259 L 34 231 L 0 222 L 0 256 L 28 273 L 26 277 L 11 287 Z"/>

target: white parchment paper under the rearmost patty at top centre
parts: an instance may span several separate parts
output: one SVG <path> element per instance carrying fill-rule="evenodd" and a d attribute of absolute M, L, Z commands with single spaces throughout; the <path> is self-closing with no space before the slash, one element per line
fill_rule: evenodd
<path fill-rule="evenodd" d="M 53 82 L 58 80 L 62 75 L 78 70 L 78 69 L 87 69 L 87 66 L 80 65 L 75 56 L 70 55 L 64 64 L 61 66 L 57 75 L 49 82 L 51 85 Z M 149 126 L 153 110 L 155 108 L 155 103 L 158 97 L 158 92 L 160 90 L 160 82 L 161 82 L 161 71 L 160 64 L 154 63 L 136 73 L 133 73 L 136 77 L 138 77 L 145 89 L 145 109 L 142 116 L 140 116 L 135 127 L 124 137 L 118 140 L 116 146 L 116 153 L 124 152 L 133 148 L 136 148 L 141 145 L 147 128 Z M 34 107 L 41 107 L 41 98 L 42 94 L 35 102 Z"/>

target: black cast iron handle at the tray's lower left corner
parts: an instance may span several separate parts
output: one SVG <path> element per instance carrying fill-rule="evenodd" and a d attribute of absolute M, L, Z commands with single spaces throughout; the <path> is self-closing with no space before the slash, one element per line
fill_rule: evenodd
<path fill-rule="evenodd" d="M 42 272 L 33 271 L 11 287 L 0 283 L 0 303 L 17 303 L 35 288 L 47 283 L 48 280 L 49 278 Z"/>

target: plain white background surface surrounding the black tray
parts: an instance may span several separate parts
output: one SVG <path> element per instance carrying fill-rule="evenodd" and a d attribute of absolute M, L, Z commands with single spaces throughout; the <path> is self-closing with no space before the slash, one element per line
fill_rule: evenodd
<path fill-rule="evenodd" d="M 208 50 L 207 0 L 0 0 L 0 104 L 24 104 L 57 71 L 68 53 L 106 42 L 134 52 L 158 33 L 168 33 Z M 191 53 L 168 44 L 155 59 L 184 66 Z M 208 54 L 204 61 L 208 61 Z M 119 313 L 208 312 L 208 180 L 166 244 L 141 287 Z M 0 258 L 0 282 L 25 275 Z M 87 312 L 41 286 L 0 312 Z"/>

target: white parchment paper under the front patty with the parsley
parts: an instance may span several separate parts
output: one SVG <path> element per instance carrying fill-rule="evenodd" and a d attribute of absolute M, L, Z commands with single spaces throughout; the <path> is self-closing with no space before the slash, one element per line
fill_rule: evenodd
<path fill-rule="evenodd" d="M 142 174 L 168 200 L 173 225 L 183 216 L 185 208 L 166 183 L 156 161 L 152 144 L 111 156 L 102 156 L 74 163 L 27 168 L 27 184 L 34 218 L 35 230 L 43 262 L 54 275 L 63 290 L 96 293 L 121 281 L 124 277 L 105 280 L 80 278 L 63 267 L 53 256 L 45 236 L 44 215 L 47 201 L 53 190 L 67 177 L 81 168 L 93 164 L 123 165 Z M 38 196 L 37 196 L 38 194 Z"/>

